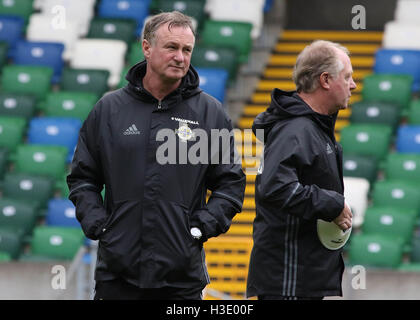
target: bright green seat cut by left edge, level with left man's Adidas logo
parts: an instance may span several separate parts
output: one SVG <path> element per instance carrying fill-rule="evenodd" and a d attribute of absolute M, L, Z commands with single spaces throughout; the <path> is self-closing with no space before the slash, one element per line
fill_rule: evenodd
<path fill-rule="evenodd" d="M 0 148 L 14 151 L 23 143 L 26 119 L 17 117 L 0 117 Z"/>

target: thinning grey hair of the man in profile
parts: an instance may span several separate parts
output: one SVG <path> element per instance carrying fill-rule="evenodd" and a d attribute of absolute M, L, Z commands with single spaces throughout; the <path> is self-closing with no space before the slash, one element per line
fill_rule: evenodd
<path fill-rule="evenodd" d="M 316 40 L 298 55 L 293 70 L 293 81 L 297 92 L 311 93 L 319 87 L 319 76 L 328 72 L 332 77 L 338 76 L 344 65 L 335 49 L 350 55 L 349 50 L 339 43 Z"/>

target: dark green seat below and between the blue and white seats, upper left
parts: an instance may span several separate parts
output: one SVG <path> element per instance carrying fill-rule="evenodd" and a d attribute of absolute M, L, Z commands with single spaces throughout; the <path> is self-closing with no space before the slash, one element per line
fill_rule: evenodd
<path fill-rule="evenodd" d="M 88 92 L 102 97 L 109 90 L 109 75 L 108 70 L 64 68 L 60 89 L 63 91 Z"/>

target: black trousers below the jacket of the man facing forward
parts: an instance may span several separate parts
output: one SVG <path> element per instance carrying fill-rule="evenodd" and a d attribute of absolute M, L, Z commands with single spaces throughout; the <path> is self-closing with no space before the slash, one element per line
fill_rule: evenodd
<path fill-rule="evenodd" d="M 94 300 L 202 300 L 203 288 L 142 289 L 123 279 L 96 281 Z"/>

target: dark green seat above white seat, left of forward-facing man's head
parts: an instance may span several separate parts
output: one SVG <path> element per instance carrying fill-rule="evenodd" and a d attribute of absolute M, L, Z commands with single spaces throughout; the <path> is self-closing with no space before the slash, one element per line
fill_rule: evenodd
<path fill-rule="evenodd" d="M 131 19 L 94 18 L 90 22 L 88 38 L 122 40 L 130 45 L 135 38 L 137 22 Z"/>

